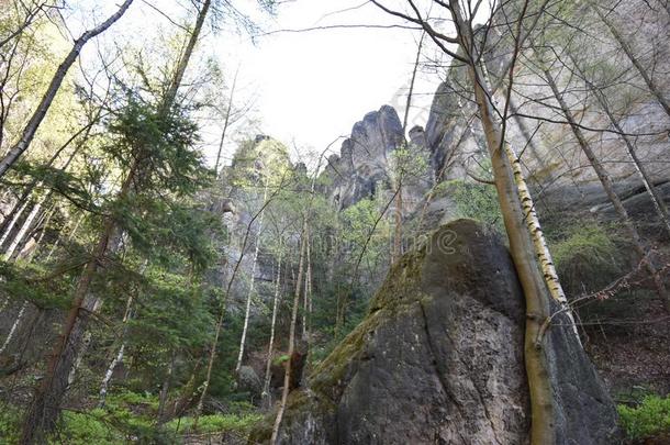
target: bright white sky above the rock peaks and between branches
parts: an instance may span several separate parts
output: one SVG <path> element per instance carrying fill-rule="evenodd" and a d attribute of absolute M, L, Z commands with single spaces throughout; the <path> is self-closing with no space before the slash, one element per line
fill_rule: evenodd
<path fill-rule="evenodd" d="M 181 22 L 185 9 L 179 0 L 147 0 Z M 186 0 L 181 0 L 186 1 Z M 120 0 L 79 0 L 82 14 L 94 8 L 98 21 L 107 16 Z M 245 0 L 246 4 L 253 2 Z M 364 0 L 295 0 L 281 4 L 276 16 L 261 16 L 264 31 L 301 30 L 334 24 L 390 24 L 398 23 Z M 92 8 L 91 8 L 92 7 Z M 331 14 L 354 8 L 349 11 Z M 259 15 L 257 15 L 259 18 Z M 83 18 L 90 23 L 90 15 Z M 169 30 L 170 24 L 148 8 L 143 0 L 134 4 L 105 38 L 122 35 L 142 36 L 157 33 L 158 26 Z M 252 44 L 248 34 L 223 30 L 208 37 L 198 51 L 214 55 L 225 71 L 234 73 L 239 65 L 241 99 L 256 98 L 256 110 L 264 134 L 291 146 L 301 153 L 322 152 L 338 136 L 347 135 L 354 123 L 382 104 L 393 105 L 402 119 L 412 73 L 416 31 L 392 29 L 335 29 L 303 33 L 273 33 Z M 410 115 L 409 129 L 425 125 L 427 108 L 439 77 L 422 75 L 415 87 L 415 108 Z M 205 131 L 205 138 L 214 143 L 216 130 Z M 339 143 L 333 146 L 339 149 Z M 226 146 L 230 157 L 234 145 Z M 213 157 L 214 147 L 208 149 Z"/>

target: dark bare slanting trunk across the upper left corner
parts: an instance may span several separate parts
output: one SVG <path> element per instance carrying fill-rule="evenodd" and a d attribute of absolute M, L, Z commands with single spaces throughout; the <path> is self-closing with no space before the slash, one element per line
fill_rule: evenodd
<path fill-rule="evenodd" d="M 12 148 L 10 148 L 9 153 L 4 156 L 2 160 L 0 160 L 0 178 L 4 176 L 7 170 L 19 159 L 19 157 L 30 147 L 33 138 L 35 137 L 35 133 L 37 133 L 37 129 L 40 129 L 40 124 L 46 116 L 48 109 L 56 97 L 56 93 L 60 89 L 63 80 L 65 80 L 65 76 L 67 71 L 70 69 L 72 64 L 79 57 L 79 53 L 83 48 L 83 46 L 91 38 L 107 31 L 112 24 L 114 24 L 127 9 L 130 8 L 133 0 L 125 0 L 123 4 L 119 8 L 119 10 L 112 14 L 109 19 L 102 22 L 99 26 L 86 31 L 79 38 L 75 41 L 75 45 L 70 49 L 69 54 L 65 57 L 56 74 L 54 75 L 46 93 L 42 98 L 42 101 L 37 105 L 37 109 L 31 116 L 27 125 L 23 130 L 23 134 L 21 138 Z"/>

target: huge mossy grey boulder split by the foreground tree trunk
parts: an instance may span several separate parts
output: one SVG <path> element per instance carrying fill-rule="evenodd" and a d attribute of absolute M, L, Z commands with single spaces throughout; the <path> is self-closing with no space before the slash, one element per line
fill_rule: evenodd
<path fill-rule="evenodd" d="M 565 329 L 551 331 L 555 344 L 570 344 L 560 341 Z M 365 321 L 314 370 L 309 389 L 290 394 L 279 442 L 527 443 L 523 335 L 523 293 L 504 245 L 473 221 L 447 224 L 395 264 Z M 611 443 L 606 392 L 583 353 L 562 353 L 566 363 L 554 365 L 572 388 L 561 396 L 572 399 L 557 426 L 573 433 L 559 443 Z M 259 427 L 252 442 L 267 442 L 270 430 Z"/>

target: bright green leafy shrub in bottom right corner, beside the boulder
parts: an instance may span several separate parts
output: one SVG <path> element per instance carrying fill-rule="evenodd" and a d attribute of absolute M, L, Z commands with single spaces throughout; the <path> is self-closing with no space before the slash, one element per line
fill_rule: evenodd
<path fill-rule="evenodd" d="M 670 433 L 670 396 L 665 399 L 647 396 L 635 408 L 619 404 L 617 410 L 628 438 L 640 440 Z"/>

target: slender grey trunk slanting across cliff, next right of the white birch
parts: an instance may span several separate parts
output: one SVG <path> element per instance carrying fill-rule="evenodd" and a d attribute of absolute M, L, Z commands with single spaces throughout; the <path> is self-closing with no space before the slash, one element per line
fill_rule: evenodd
<path fill-rule="evenodd" d="M 614 208 L 614 211 L 616 212 L 619 220 L 624 224 L 624 227 L 626 227 L 626 231 L 628 232 L 628 235 L 630 236 L 630 242 L 633 244 L 633 248 L 635 249 L 635 252 L 636 252 L 637 256 L 640 258 L 640 260 L 644 262 L 647 272 L 654 280 L 654 286 L 656 287 L 656 291 L 657 291 L 659 298 L 666 305 L 666 310 L 670 312 L 670 298 L 668 297 L 668 292 L 666 290 L 663 280 L 659 276 L 658 271 L 656 270 L 656 267 L 654 266 L 651 258 L 647 257 L 647 252 L 643 245 L 641 237 L 639 236 L 639 233 L 637 232 L 635 224 L 630 220 L 630 216 L 628 215 L 628 211 L 622 203 L 621 199 L 618 198 L 618 194 L 616 194 L 616 191 L 614 190 L 614 185 L 612 183 L 612 179 L 610 178 L 610 174 L 607 173 L 607 170 L 605 169 L 603 164 L 600 162 L 598 156 L 595 156 L 595 153 L 591 148 L 591 145 L 589 144 L 589 142 L 587 142 L 587 138 L 584 137 L 583 133 L 581 132 L 581 129 L 579 127 L 579 125 L 577 125 L 577 121 L 574 120 L 574 116 L 572 115 L 572 111 L 570 111 L 562 94 L 558 90 L 558 87 L 556 85 L 556 81 L 554 80 L 554 77 L 551 76 L 551 73 L 549 73 L 547 69 L 544 69 L 544 75 L 547 80 L 547 84 L 551 88 L 551 92 L 554 93 L 554 96 L 556 97 L 556 100 L 558 101 L 558 104 L 560 105 L 561 112 L 563 113 L 563 115 L 566 116 L 566 120 L 570 124 L 572 134 L 577 138 L 577 142 L 578 142 L 580 148 L 582 149 L 582 152 L 589 159 L 589 163 L 593 167 L 593 170 L 595 170 L 595 174 L 596 174 L 598 178 L 600 179 L 600 182 L 602 183 L 603 189 L 605 190 L 605 193 L 607 194 L 607 198 L 610 199 L 610 202 L 612 202 L 612 207 Z"/>

